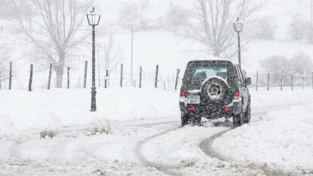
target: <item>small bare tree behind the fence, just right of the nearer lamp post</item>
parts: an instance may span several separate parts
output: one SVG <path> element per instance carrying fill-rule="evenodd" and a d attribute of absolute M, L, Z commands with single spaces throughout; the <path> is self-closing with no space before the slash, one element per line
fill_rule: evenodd
<path fill-rule="evenodd" d="M 107 43 L 104 44 L 104 69 L 110 73 L 117 65 L 123 61 L 123 53 L 119 46 L 115 46 L 113 35 L 108 37 Z M 110 75 L 110 74 L 109 74 Z"/>

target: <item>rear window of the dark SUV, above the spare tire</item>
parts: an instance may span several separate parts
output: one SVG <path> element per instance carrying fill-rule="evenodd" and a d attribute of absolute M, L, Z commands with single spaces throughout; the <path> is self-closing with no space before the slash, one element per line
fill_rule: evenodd
<path fill-rule="evenodd" d="M 227 67 L 226 66 L 196 66 L 193 67 L 193 75 L 191 79 L 192 84 L 201 84 L 203 80 L 210 76 L 220 76 L 227 81 Z"/>

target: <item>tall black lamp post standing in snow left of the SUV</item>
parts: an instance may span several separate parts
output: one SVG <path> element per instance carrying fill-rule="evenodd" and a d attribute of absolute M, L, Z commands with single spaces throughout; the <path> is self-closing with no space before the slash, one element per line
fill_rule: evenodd
<path fill-rule="evenodd" d="M 95 86 L 95 26 L 98 26 L 100 21 L 100 14 L 95 12 L 95 8 L 92 11 L 86 13 L 87 20 L 90 26 L 92 26 L 92 86 L 91 86 L 91 108 L 90 111 L 97 110 L 96 107 L 96 86 Z"/>

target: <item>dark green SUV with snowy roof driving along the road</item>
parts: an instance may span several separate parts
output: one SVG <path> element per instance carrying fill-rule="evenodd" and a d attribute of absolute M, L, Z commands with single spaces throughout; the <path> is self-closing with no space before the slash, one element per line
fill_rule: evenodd
<path fill-rule="evenodd" d="M 182 79 L 179 107 L 182 126 L 201 118 L 233 117 L 233 126 L 250 122 L 250 93 L 239 65 L 214 57 L 189 61 Z"/>

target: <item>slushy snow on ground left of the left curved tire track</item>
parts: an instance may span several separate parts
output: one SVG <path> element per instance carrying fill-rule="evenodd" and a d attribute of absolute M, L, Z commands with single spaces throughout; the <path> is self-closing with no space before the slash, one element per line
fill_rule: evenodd
<path fill-rule="evenodd" d="M 0 175 L 164 175 L 131 158 L 132 145 L 145 135 L 177 129 L 115 125 L 111 135 L 65 132 L 27 142 L 1 140 Z M 126 159 L 125 159 L 126 158 Z"/>

